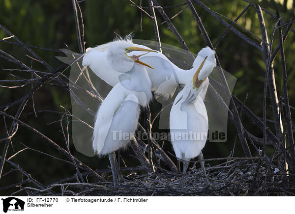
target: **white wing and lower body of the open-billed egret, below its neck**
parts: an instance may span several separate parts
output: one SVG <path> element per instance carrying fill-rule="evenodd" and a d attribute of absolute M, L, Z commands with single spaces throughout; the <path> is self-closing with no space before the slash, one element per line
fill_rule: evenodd
<path fill-rule="evenodd" d="M 115 87 L 115 90 L 118 88 Z M 125 99 L 117 99 L 118 97 L 112 94 L 107 96 L 95 118 L 92 146 L 99 156 L 108 155 L 125 147 L 132 135 L 128 136 L 128 139 L 123 139 L 118 132 L 134 133 L 137 128 L 140 112 L 137 97 L 129 94 Z M 110 110 L 113 104 L 118 110 Z"/>

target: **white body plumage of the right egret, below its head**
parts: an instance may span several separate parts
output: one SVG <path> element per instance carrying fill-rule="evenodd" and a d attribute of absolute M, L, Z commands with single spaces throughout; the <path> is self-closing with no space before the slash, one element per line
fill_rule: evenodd
<path fill-rule="evenodd" d="M 205 84 L 208 80 L 199 89 L 202 94 L 206 93 Z M 177 102 L 181 96 L 182 99 Z M 174 136 L 172 145 L 177 158 L 188 161 L 201 154 L 207 141 L 208 116 L 202 96 L 197 96 L 192 84 L 185 85 L 173 103 L 170 132 Z M 181 136 L 177 138 L 176 133 Z"/>

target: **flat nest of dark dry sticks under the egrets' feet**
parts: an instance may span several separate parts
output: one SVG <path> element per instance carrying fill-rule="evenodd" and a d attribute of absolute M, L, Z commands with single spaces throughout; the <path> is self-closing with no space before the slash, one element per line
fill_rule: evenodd
<path fill-rule="evenodd" d="M 47 189 L 26 189 L 29 195 L 42 196 L 292 196 L 295 195 L 294 174 L 287 174 L 261 159 L 227 160 L 206 167 L 207 178 L 201 169 L 189 170 L 183 187 L 179 187 L 181 173 L 151 172 L 138 174 L 138 168 L 129 171 L 118 187 L 110 182 L 56 183 Z M 126 173 L 125 173 L 126 174 Z M 75 176 L 72 177 L 75 179 Z"/>

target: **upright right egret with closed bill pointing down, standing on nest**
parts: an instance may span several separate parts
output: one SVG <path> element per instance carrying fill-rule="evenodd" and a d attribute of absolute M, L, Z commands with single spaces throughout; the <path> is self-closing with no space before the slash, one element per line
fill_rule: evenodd
<path fill-rule="evenodd" d="M 183 185 L 189 160 L 195 157 L 201 160 L 201 167 L 206 175 L 202 149 L 207 141 L 208 116 L 203 100 L 209 83 L 207 77 L 216 66 L 214 54 L 215 52 L 208 47 L 199 52 L 194 65 L 194 67 L 198 66 L 198 69 L 178 93 L 171 108 L 172 145 L 177 158 L 183 161 L 180 186 Z M 207 179 L 206 183 L 208 183 Z"/>

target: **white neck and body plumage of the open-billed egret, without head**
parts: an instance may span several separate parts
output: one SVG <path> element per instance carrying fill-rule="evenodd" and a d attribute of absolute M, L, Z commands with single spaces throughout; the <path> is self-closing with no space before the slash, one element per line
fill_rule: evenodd
<path fill-rule="evenodd" d="M 127 145 L 137 128 L 140 105 L 148 105 L 152 97 L 151 83 L 143 65 L 134 63 L 126 75 L 130 80 L 125 78 L 115 85 L 98 109 L 92 147 L 99 156 L 110 154 Z M 116 135 L 119 133 L 126 133 L 128 137 L 119 138 Z"/>

